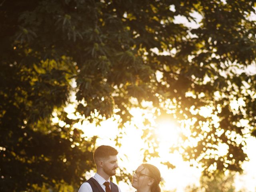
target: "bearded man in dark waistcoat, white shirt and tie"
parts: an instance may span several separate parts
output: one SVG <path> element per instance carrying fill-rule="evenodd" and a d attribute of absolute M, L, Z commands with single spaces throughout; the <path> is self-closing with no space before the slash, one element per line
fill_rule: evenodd
<path fill-rule="evenodd" d="M 97 172 L 94 177 L 81 184 L 78 192 L 121 192 L 120 188 L 110 181 L 110 177 L 116 174 L 118 168 L 117 154 L 118 151 L 111 146 L 99 146 L 93 154 Z"/>

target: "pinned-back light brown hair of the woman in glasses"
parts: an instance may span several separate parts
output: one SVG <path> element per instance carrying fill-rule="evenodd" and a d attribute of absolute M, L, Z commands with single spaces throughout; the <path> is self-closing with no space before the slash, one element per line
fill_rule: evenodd
<path fill-rule="evenodd" d="M 161 189 L 159 186 L 159 183 L 161 181 L 161 174 L 159 169 L 156 166 L 148 163 L 144 163 L 142 164 L 142 166 L 148 169 L 149 171 L 148 175 L 154 179 L 154 183 L 151 186 L 151 192 L 161 192 Z"/>

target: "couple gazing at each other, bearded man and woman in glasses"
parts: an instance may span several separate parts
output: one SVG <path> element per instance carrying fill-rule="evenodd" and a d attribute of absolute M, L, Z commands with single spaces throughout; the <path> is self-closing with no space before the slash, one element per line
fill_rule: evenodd
<path fill-rule="evenodd" d="M 117 154 L 118 151 L 111 146 L 99 146 L 93 154 L 97 172 L 94 177 L 81 184 L 78 192 L 121 192 L 120 188 L 110 181 L 110 177 L 116 174 L 118 168 Z M 137 192 L 161 192 L 160 181 L 160 171 L 151 164 L 141 164 L 132 175 L 132 186 Z"/>

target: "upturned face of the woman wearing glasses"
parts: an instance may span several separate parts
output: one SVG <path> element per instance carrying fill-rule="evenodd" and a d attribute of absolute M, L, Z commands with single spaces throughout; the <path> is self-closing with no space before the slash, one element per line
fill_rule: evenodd
<path fill-rule="evenodd" d="M 132 186 L 137 190 L 139 188 L 143 189 L 146 186 L 149 186 L 152 178 L 149 175 L 147 168 L 144 168 L 143 165 L 139 166 L 134 174 L 132 175 Z"/>

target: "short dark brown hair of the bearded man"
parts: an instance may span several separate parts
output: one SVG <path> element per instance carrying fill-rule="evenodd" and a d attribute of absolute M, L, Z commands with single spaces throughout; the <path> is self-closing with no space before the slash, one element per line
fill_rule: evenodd
<path fill-rule="evenodd" d="M 118 154 L 118 151 L 115 148 L 108 145 L 102 145 L 96 148 L 96 150 L 94 151 L 93 159 L 94 159 L 94 162 L 96 163 L 96 161 L 99 160 L 100 158 L 107 158 L 110 155 L 117 155 L 117 154 Z"/>

